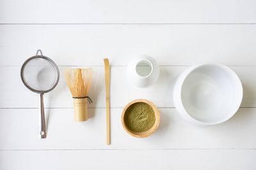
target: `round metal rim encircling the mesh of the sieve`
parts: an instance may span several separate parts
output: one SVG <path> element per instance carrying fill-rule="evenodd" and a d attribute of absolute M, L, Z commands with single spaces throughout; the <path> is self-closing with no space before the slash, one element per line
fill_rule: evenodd
<path fill-rule="evenodd" d="M 37 53 L 36 53 L 37 54 Z M 36 89 L 33 89 L 32 87 L 30 87 L 28 85 L 28 83 L 26 82 L 25 78 L 24 78 L 24 69 L 26 67 L 26 65 L 28 64 L 29 61 L 33 60 L 33 59 L 45 59 L 47 60 L 48 62 L 50 62 L 52 64 L 52 66 L 54 67 L 56 73 L 57 73 L 57 77 L 56 77 L 56 80 L 55 80 L 55 83 L 52 85 L 52 87 L 50 89 L 47 89 L 47 90 L 36 90 Z M 21 80 L 22 82 L 24 83 L 24 85 L 29 89 L 31 90 L 32 92 L 36 92 L 38 94 L 44 94 L 44 93 L 47 93 L 47 92 L 50 92 L 52 89 L 54 89 L 56 87 L 56 85 L 58 84 L 59 80 L 60 80 L 60 71 L 58 69 L 58 66 L 55 64 L 55 62 L 50 59 L 49 57 L 46 57 L 44 55 L 42 55 L 42 52 L 41 52 L 41 55 L 35 55 L 33 57 L 30 57 L 29 59 L 27 59 L 23 64 L 22 64 L 22 67 L 20 69 L 20 77 L 21 77 Z"/>

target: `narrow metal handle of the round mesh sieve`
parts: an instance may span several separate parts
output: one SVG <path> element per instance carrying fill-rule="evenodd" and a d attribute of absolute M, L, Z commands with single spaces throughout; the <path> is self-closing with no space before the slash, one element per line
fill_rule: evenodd
<path fill-rule="evenodd" d="M 44 94 L 40 94 L 40 110 L 38 115 L 38 138 L 46 138 L 45 117 L 44 117 Z"/>

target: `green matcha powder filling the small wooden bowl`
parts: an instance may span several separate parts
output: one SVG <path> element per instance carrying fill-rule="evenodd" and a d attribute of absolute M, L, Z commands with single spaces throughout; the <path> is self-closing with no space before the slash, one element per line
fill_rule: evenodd
<path fill-rule="evenodd" d="M 147 103 L 134 103 L 125 111 L 124 123 L 133 132 L 148 131 L 155 122 L 154 110 Z"/>

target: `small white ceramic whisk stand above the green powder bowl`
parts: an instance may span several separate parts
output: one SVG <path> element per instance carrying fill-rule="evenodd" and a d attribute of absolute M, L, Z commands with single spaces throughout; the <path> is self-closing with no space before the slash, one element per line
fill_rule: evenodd
<path fill-rule="evenodd" d="M 140 55 L 127 64 L 127 77 L 136 87 L 148 87 L 157 81 L 159 66 L 152 57 Z"/>

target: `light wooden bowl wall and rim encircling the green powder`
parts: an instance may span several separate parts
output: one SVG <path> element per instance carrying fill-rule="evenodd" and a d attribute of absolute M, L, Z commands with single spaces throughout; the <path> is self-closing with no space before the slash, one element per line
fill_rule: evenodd
<path fill-rule="evenodd" d="M 125 115 L 125 112 L 127 110 L 127 108 L 129 108 L 129 106 L 131 106 L 132 104 L 134 103 L 147 103 L 149 106 L 152 107 L 152 109 L 154 110 L 154 113 L 155 113 L 155 117 L 156 117 L 156 122 L 155 124 L 151 127 L 151 129 L 149 129 L 148 131 L 145 131 L 145 132 L 133 132 L 131 131 L 130 129 L 128 129 L 128 127 L 125 125 L 125 122 L 124 122 L 124 115 Z M 130 103 L 128 103 L 124 110 L 123 110 L 123 113 L 122 113 L 122 125 L 124 127 L 124 130 L 131 134 L 131 136 L 134 136 L 136 138 L 145 138 L 147 136 L 150 136 L 151 134 L 153 134 L 157 127 L 159 126 L 159 123 L 160 123 L 160 114 L 159 114 L 159 111 L 157 110 L 157 107 L 150 101 L 146 100 L 146 99 L 136 99 L 134 101 L 131 101 Z"/>

